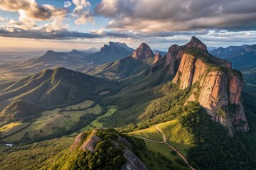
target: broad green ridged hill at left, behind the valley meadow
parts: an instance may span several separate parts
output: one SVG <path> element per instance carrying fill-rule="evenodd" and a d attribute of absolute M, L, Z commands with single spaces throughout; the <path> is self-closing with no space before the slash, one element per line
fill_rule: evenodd
<path fill-rule="evenodd" d="M 0 84 L 1 118 L 17 117 L 21 109 L 35 108 L 36 105 L 50 108 L 78 103 L 90 96 L 97 96 L 102 91 L 112 91 L 114 87 L 112 81 L 69 69 L 46 69 L 9 83 L 8 86 Z M 19 107 L 21 105 L 24 107 Z M 16 111 L 12 110 L 14 108 Z M 28 111 L 28 115 L 33 111 Z M 6 117 L 6 113 L 10 115 Z"/>

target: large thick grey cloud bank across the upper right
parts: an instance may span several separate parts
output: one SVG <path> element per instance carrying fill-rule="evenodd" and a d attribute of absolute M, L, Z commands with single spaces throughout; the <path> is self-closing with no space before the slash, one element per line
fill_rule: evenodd
<path fill-rule="evenodd" d="M 102 0 L 95 13 L 107 28 L 143 32 L 198 29 L 255 30 L 255 0 Z"/>

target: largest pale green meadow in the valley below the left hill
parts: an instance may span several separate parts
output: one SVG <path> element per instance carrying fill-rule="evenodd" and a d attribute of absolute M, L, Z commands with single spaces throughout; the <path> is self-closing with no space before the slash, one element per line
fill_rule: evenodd
<path fill-rule="evenodd" d="M 18 142 L 23 137 L 30 139 L 44 137 L 57 132 L 58 128 L 69 130 L 72 125 L 78 123 L 82 115 L 88 113 L 100 114 L 102 112 L 102 108 L 98 104 L 93 108 L 87 108 L 83 111 L 61 111 L 62 109 L 63 108 L 56 108 L 52 111 L 44 111 L 28 128 L 17 132 L 15 135 L 6 137 L 2 142 Z"/>

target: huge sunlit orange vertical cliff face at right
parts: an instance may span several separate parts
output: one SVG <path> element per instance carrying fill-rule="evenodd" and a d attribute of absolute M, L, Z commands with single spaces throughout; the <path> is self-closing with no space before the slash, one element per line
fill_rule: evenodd
<path fill-rule="evenodd" d="M 198 101 L 213 120 L 228 128 L 230 135 L 235 129 L 248 130 L 240 99 L 242 76 L 230 69 L 229 62 L 210 55 L 203 58 L 183 54 L 173 82 L 179 84 L 180 89 L 195 84 L 188 101 Z"/>

